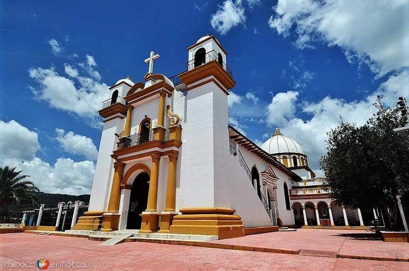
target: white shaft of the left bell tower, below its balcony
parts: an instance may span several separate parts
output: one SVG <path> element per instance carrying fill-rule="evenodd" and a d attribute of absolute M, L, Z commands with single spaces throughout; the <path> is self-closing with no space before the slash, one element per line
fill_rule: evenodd
<path fill-rule="evenodd" d="M 119 134 L 123 128 L 124 119 L 116 118 L 103 124 L 89 211 L 105 210 L 108 205 L 114 162 L 110 155 L 116 149 L 117 142 L 114 133 Z"/>

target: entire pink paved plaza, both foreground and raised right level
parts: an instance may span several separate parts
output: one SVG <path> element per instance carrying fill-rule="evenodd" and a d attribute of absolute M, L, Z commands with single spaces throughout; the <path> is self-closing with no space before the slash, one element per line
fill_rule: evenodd
<path fill-rule="evenodd" d="M 46 259 L 50 264 L 73 261 L 92 270 L 409 269 L 409 262 L 404 262 L 409 261 L 409 243 L 382 242 L 370 233 L 353 230 L 265 233 L 212 241 L 214 247 L 149 242 L 102 246 L 100 243 L 86 238 L 2 234 L 0 264 L 4 269 L 13 269 L 8 268 L 13 263 Z M 219 249 L 218 244 L 232 247 Z M 281 253 L 262 252 L 262 249 L 281 250 Z M 366 259 L 352 259 L 354 256 Z M 370 260 L 380 258 L 385 260 Z"/>

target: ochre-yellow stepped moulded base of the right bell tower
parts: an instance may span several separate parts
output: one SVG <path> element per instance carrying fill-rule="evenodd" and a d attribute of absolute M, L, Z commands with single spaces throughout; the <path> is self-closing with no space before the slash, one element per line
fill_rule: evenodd
<path fill-rule="evenodd" d="M 183 208 L 181 215 L 173 217 L 170 233 L 217 235 L 219 239 L 242 237 L 244 225 L 241 217 L 230 208 Z"/>

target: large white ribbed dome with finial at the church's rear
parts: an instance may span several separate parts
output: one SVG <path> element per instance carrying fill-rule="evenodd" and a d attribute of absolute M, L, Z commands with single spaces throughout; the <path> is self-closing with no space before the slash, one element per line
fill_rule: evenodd
<path fill-rule="evenodd" d="M 269 154 L 273 155 L 289 152 L 305 155 L 300 144 L 298 144 L 295 140 L 282 135 L 279 128 L 276 128 L 274 134 L 272 134 L 272 137 L 264 142 L 261 148 Z"/>

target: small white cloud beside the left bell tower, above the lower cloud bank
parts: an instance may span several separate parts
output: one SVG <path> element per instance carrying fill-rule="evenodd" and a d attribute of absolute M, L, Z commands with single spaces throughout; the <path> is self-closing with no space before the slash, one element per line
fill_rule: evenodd
<path fill-rule="evenodd" d="M 64 151 L 84 156 L 88 160 L 97 161 L 98 150 L 92 139 L 85 135 L 75 134 L 72 131 L 65 133 L 63 129 L 55 129 L 56 140 L 61 144 Z"/>

